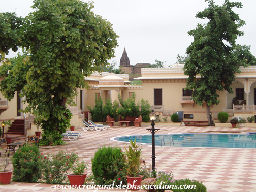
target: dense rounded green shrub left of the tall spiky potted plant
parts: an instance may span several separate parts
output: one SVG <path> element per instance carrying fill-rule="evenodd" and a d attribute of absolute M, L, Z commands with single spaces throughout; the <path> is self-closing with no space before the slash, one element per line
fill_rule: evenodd
<path fill-rule="evenodd" d="M 91 170 L 94 183 L 99 185 L 112 184 L 115 185 L 126 183 L 126 165 L 120 147 L 102 147 L 99 148 L 91 158 Z M 119 179 L 120 178 L 120 179 Z"/>

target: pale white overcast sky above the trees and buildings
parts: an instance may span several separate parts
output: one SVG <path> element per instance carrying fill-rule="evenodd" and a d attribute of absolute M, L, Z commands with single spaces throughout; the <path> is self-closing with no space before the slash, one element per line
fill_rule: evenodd
<path fill-rule="evenodd" d="M 85 1 L 86 2 L 86 1 Z M 222 5 L 224 1 L 215 0 Z M 241 0 L 242 9 L 233 8 L 246 25 L 240 30 L 245 35 L 237 39 L 241 45 L 251 45 L 251 53 L 256 56 L 256 1 Z M 25 17 L 33 10 L 33 0 L 0 0 L 1 12 L 15 12 Z M 154 63 L 155 59 L 173 65 L 177 54 L 185 55 L 186 48 L 193 41 L 187 31 L 195 29 L 197 23 L 206 20 L 197 19 L 196 13 L 203 11 L 208 4 L 204 0 L 94 0 L 92 11 L 113 24 L 118 47 L 115 58 L 119 66 L 124 47 L 131 65 L 136 63 Z M 7 57 L 13 57 L 10 53 Z"/>

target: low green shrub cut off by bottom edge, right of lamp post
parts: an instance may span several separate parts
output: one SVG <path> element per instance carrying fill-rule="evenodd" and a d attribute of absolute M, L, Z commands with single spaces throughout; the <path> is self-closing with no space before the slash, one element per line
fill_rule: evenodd
<path fill-rule="evenodd" d="M 181 180 L 176 180 L 172 183 L 173 185 L 177 185 L 178 187 L 180 185 L 195 185 L 193 187 L 193 189 L 171 189 L 173 192 L 206 192 L 207 189 L 206 187 L 204 186 L 204 184 L 196 180 L 190 180 L 190 179 L 181 179 Z M 183 186 L 184 187 L 184 186 Z M 191 186 L 190 186 L 191 187 Z"/>

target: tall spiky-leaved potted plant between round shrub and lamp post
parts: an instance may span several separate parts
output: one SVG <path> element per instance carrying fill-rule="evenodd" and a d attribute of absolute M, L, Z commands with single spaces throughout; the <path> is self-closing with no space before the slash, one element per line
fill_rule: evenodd
<path fill-rule="evenodd" d="M 127 183 L 134 186 L 129 188 L 130 190 L 139 190 L 138 185 L 141 185 L 143 176 L 138 175 L 140 164 L 142 162 L 142 148 L 139 149 L 139 145 L 136 145 L 136 139 L 134 142 L 130 140 L 131 146 L 128 149 L 125 149 L 125 155 L 127 156 Z M 135 181 L 136 180 L 136 181 Z M 135 181 L 135 182 L 134 182 Z"/>

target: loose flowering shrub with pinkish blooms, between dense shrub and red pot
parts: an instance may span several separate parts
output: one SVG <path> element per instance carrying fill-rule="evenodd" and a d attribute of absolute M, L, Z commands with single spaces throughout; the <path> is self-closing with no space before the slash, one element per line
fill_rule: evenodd
<path fill-rule="evenodd" d="M 42 157 L 42 178 L 49 184 L 63 184 L 67 182 L 68 171 L 78 159 L 74 152 L 59 151 L 56 155 L 47 154 Z"/>

